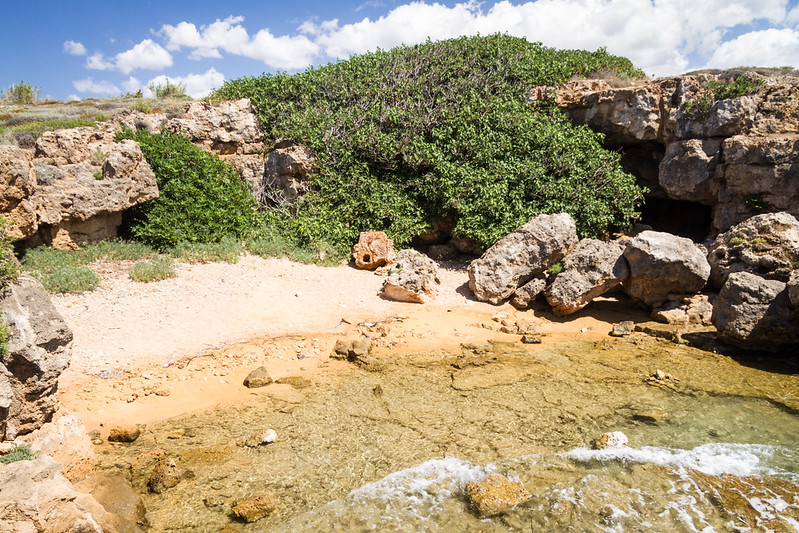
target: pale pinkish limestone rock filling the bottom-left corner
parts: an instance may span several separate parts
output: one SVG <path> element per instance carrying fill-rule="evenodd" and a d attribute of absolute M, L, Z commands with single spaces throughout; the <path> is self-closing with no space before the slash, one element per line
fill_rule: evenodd
<path fill-rule="evenodd" d="M 4 531 L 73 533 L 122 529 L 92 496 L 75 491 L 61 465 L 47 455 L 2 465 L 0 527 Z"/>

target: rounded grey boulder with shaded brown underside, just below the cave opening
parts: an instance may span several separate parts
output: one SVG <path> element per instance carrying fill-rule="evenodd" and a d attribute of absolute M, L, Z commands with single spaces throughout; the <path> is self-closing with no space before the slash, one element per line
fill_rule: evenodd
<path fill-rule="evenodd" d="M 669 294 L 693 294 L 705 286 L 710 265 L 690 239 L 658 231 L 643 231 L 624 250 L 630 265 L 627 294 L 658 306 Z"/>

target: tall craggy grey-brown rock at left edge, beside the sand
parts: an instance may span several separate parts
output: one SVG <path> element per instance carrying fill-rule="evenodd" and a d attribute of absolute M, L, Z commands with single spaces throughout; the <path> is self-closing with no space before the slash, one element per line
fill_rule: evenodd
<path fill-rule="evenodd" d="M 72 331 L 42 284 L 27 275 L 0 289 L 0 309 L 10 330 L 8 354 L 0 362 L 0 440 L 10 440 L 40 428 L 55 413 Z"/>

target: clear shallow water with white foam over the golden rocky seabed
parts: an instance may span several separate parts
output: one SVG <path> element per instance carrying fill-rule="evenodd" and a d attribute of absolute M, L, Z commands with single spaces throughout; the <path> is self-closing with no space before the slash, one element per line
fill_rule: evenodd
<path fill-rule="evenodd" d="M 678 380 L 647 382 L 657 369 Z M 797 407 L 795 375 L 665 341 L 495 344 L 270 386 L 100 457 L 155 531 L 799 531 Z M 276 442 L 242 445 L 267 428 Z M 589 450 L 606 431 L 630 447 Z M 150 494 L 163 454 L 184 479 Z M 464 487 L 490 472 L 533 498 L 479 519 Z M 265 491 L 277 513 L 233 520 Z"/>

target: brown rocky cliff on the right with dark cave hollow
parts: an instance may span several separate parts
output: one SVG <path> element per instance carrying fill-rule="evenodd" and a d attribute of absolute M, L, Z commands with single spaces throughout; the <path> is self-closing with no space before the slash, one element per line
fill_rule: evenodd
<path fill-rule="evenodd" d="M 747 94 L 724 98 L 739 75 L 751 81 Z M 583 80 L 530 95 L 547 97 L 621 151 L 650 189 L 645 217 L 656 226 L 682 222 L 683 233 L 703 238 L 762 212 L 799 215 L 798 77 L 693 74 L 629 87 Z"/>

